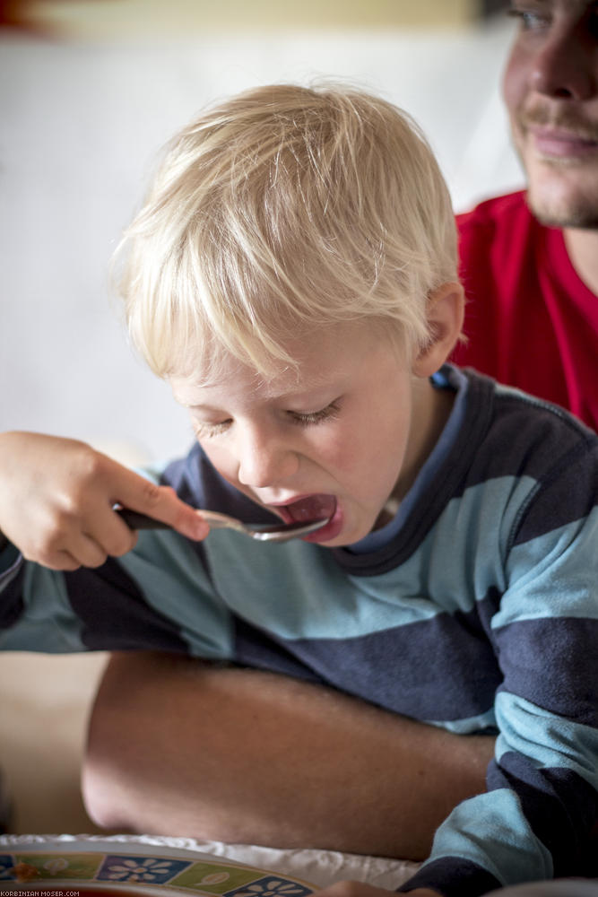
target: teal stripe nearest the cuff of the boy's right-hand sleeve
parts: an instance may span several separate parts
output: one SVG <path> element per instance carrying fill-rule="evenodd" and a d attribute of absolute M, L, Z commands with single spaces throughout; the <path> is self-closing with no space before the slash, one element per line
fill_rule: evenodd
<path fill-rule="evenodd" d="M 428 862 L 443 857 L 470 860 L 502 886 L 553 876 L 550 851 L 533 834 L 519 798 L 508 788 L 472 797 L 456 807 L 438 829 Z"/>

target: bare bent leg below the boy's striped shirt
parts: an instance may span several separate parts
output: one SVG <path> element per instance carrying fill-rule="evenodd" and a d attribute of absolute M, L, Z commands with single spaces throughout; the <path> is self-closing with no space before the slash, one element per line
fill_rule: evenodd
<path fill-rule="evenodd" d="M 287 677 L 121 654 L 92 713 L 83 791 L 112 829 L 420 859 L 483 790 L 493 744 Z"/>

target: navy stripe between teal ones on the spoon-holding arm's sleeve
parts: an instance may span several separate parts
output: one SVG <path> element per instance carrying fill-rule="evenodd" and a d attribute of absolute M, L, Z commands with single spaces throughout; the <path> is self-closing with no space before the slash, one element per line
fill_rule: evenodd
<path fill-rule="evenodd" d="M 188 653 L 177 625 L 145 602 L 140 588 L 113 558 L 97 570 L 65 574 L 65 583 L 88 649 Z"/>

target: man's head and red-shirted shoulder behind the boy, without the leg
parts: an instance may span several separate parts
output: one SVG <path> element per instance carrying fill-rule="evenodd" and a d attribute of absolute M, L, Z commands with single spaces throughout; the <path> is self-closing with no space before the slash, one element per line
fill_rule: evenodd
<path fill-rule="evenodd" d="M 456 360 L 598 429 L 598 8 L 513 5 L 504 93 L 528 190 L 459 218 L 471 306 Z"/>

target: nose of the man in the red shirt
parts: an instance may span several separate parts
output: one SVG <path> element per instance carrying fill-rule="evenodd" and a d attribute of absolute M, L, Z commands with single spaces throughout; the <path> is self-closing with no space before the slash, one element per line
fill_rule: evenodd
<path fill-rule="evenodd" d="M 596 49 L 579 22 L 555 28 L 537 48 L 530 73 L 534 91 L 563 100 L 588 100 L 596 92 Z"/>

